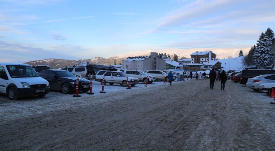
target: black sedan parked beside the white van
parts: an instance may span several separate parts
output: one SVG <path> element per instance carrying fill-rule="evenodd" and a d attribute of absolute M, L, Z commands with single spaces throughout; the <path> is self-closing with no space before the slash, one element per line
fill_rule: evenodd
<path fill-rule="evenodd" d="M 65 70 L 43 70 L 38 75 L 50 83 L 51 90 L 62 91 L 65 94 L 74 92 L 76 89 L 76 76 Z M 90 81 L 79 77 L 78 90 L 88 92 Z"/>

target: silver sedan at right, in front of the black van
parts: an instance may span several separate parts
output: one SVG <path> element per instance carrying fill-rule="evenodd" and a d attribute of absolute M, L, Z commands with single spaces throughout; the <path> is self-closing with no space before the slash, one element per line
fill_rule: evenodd
<path fill-rule="evenodd" d="M 275 74 L 259 75 L 253 78 L 248 78 L 246 83 L 247 88 L 252 88 L 254 91 L 259 91 L 259 85 L 262 83 L 275 82 Z"/>

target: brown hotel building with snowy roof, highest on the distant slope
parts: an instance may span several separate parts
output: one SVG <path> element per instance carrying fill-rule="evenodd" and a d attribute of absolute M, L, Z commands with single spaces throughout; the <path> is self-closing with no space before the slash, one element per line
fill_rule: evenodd
<path fill-rule="evenodd" d="M 216 59 L 216 54 L 212 51 L 194 52 L 191 55 L 191 63 L 205 63 Z"/>

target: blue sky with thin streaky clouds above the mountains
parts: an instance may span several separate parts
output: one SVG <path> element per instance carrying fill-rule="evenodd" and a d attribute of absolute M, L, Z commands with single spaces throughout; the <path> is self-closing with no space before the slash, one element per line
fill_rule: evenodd
<path fill-rule="evenodd" d="M 0 0 L 0 62 L 250 48 L 267 28 L 275 30 L 274 5 L 271 0 Z"/>

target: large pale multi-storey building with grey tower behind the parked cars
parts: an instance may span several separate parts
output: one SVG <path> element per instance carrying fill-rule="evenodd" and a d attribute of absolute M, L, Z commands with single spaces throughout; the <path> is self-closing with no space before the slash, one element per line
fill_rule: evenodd
<path fill-rule="evenodd" d="M 165 60 L 157 52 L 146 57 L 128 57 L 122 60 L 122 68 L 128 70 L 165 70 Z"/>

